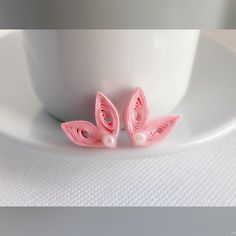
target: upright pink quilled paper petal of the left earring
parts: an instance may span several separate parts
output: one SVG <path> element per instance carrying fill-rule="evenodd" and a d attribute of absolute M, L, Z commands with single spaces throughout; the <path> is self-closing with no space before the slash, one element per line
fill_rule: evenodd
<path fill-rule="evenodd" d="M 95 105 L 95 117 L 97 127 L 105 134 L 118 136 L 120 131 L 120 119 L 118 111 L 113 103 L 102 93 L 98 93 Z"/>

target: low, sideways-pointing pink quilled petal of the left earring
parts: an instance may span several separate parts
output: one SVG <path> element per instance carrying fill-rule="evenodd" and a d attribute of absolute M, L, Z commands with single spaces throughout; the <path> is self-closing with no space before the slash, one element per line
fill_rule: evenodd
<path fill-rule="evenodd" d="M 68 138 L 79 146 L 103 147 L 98 128 L 87 121 L 71 121 L 61 124 Z"/>

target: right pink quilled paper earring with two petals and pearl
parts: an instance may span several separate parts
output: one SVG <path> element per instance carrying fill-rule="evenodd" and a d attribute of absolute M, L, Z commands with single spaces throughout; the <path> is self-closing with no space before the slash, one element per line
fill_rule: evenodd
<path fill-rule="evenodd" d="M 124 112 L 124 125 L 134 146 L 148 146 L 162 141 L 179 120 L 178 115 L 168 115 L 148 122 L 148 114 L 144 92 L 137 88 Z"/>

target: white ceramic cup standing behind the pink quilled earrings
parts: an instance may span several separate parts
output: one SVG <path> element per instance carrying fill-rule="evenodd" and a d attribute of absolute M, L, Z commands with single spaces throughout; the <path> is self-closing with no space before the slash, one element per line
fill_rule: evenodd
<path fill-rule="evenodd" d="M 32 84 L 45 108 L 68 121 L 94 119 L 98 91 L 120 113 L 141 87 L 150 117 L 171 112 L 190 80 L 198 30 L 25 30 Z"/>

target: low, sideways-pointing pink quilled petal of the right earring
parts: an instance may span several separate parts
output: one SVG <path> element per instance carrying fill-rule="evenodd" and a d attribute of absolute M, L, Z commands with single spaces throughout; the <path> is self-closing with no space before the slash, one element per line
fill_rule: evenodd
<path fill-rule="evenodd" d="M 178 120 L 178 115 L 169 115 L 150 122 L 145 128 L 147 138 L 145 145 L 161 142 L 165 139 L 174 129 Z"/>

